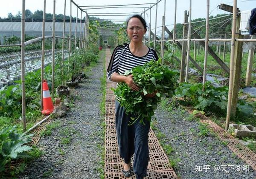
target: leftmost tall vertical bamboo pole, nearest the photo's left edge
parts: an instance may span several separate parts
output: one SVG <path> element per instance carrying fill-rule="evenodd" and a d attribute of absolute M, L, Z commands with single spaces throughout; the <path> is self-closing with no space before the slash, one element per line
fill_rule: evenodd
<path fill-rule="evenodd" d="M 25 0 L 22 0 L 21 17 L 21 88 L 22 88 L 22 123 L 23 131 L 26 131 L 26 91 L 25 91 Z"/>

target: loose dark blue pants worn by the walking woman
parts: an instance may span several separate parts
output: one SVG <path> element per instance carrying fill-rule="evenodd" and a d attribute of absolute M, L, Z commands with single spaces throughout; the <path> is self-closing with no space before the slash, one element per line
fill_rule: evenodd
<path fill-rule="evenodd" d="M 116 101 L 116 134 L 119 154 L 125 163 L 130 163 L 134 154 L 133 169 L 137 179 L 147 175 L 148 167 L 148 132 L 150 122 L 145 125 L 138 119 L 133 125 L 128 125 L 132 115 L 125 114 L 125 108 Z"/>

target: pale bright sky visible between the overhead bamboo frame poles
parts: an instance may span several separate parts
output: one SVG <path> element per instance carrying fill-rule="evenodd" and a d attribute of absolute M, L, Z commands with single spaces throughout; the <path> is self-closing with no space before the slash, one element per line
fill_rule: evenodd
<path fill-rule="evenodd" d="M 7 17 L 11 12 L 13 15 L 21 11 L 22 0 L 1 0 L 0 17 Z M 157 0 L 74 0 L 79 6 L 92 6 L 92 5 L 120 5 L 120 4 L 137 4 L 137 3 L 155 3 Z M 166 25 L 174 23 L 174 2 L 175 0 L 166 0 Z M 46 12 L 52 13 L 53 0 L 46 0 Z M 217 6 L 221 3 L 226 3 L 233 6 L 232 0 L 210 0 L 210 15 L 224 14 L 225 11 L 219 10 Z M 43 10 L 44 0 L 26 0 L 26 9 L 34 12 L 36 10 Z M 142 5 L 149 7 L 150 5 Z M 155 8 L 151 10 L 151 24 L 155 23 Z M 238 0 L 237 7 L 241 10 L 250 10 L 256 8 L 256 0 Z M 67 15 L 70 14 L 70 0 L 67 0 L 66 7 Z M 90 7 L 91 8 L 91 7 Z M 143 11 L 144 8 L 113 8 L 113 9 L 91 9 L 87 10 L 88 13 L 119 13 L 119 12 L 137 12 Z M 147 9 L 147 8 L 145 8 Z M 183 22 L 184 11 L 189 10 L 189 0 L 177 0 L 177 23 Z M 64 0 L 56 0 L 56 14 L 64 13 Z M 164 0 L 158 3 L 157 12 L 157 26 L 161 25 L 162 16 L 164 13 Z M 72 16 L 76 17 L 76 7 L 72 6 Z M 79 12 L 80 17 L 80 12 Z M 128 16 L 99 16 L 104 19 L 122 19 L 125 20 Z M 149 23 L 149 11 L 145 14 L 146 21 Z M 206 17 L 206 0 L 192 0 L 192 19 Z M 172 26 L 169 26 L 172 28 Z"/>

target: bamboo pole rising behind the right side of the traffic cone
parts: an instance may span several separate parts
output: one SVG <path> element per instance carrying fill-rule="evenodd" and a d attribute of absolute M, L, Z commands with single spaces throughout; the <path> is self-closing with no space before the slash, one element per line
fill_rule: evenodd
<path fill-rule="evenodd" d="M 52 14 L 52 97 L 54 95 L 54 68 L 55 68 L 55 6 L 56 6 L 56 0 L 53 0 L 53 14 Z"/>

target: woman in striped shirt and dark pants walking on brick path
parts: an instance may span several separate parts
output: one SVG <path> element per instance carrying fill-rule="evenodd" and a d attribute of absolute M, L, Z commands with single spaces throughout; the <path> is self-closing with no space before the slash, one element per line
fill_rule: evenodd
<path fill-rule="evenodd" d="M 126 32 L 130 43 L 123 48 L 116 48 L 113 61 L 108 66 L 107 77 L 113 82 L 125 82 L 132 90 L 140 88 L 134 83 L 132 75 L 124 76 L 126 70 L 131 70 L 137 65 L 143 65 L 150 60 L 158 60 L 156 52 L 143 45 L 143 35 L 147 31 L 145 20 L 140 15 L 133 15 L 127 20 Z M 147 94 L 146 97 L 154 97 L 155 94 Z M 147 174 L 148 166 L 148 132 L 150 122 L 145 125 L 137 120 L 133 125 L 128 122 L 133 114 L 125 114 L 125 109 L 116 101 L 116 134 L 119 146 L 119 154 L 124 159 L 123 174 L 131 176 L 131 157 L 134 154 L 134 173 L 137 179 L 143 179 Z"/>

